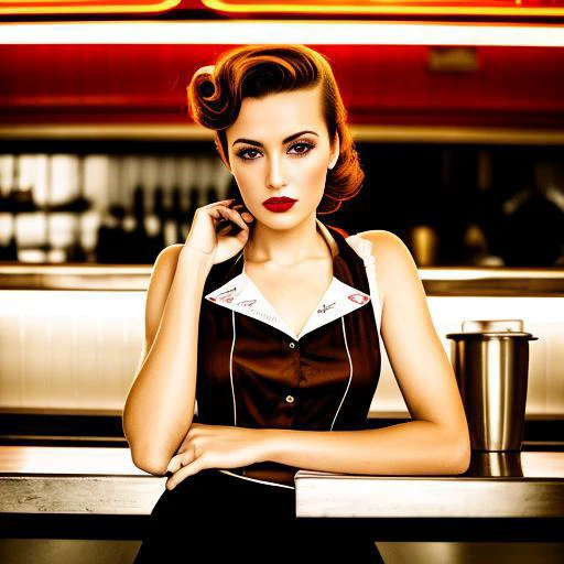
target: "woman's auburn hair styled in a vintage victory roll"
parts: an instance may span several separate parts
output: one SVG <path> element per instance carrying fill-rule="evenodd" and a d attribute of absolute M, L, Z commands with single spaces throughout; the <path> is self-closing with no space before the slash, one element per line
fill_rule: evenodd
<path fill-rule="evenodd" d="M 243 45 L 227 51 L 215 65 L 194 73 L 187 86 L 188 111 L 196 123 L 215 131 L 216 149 L 229 165 L 225 130 L 237 120 L 245 98 L 315 88 L 319 84 L 330 142 L 336 132 L 339 135 L 339 156 L 327 171 L 317 208 L 321 215 L 332 214 L 359 193 L 365 173 L 347 127 L 347 110 L 324 55 L 304 45 Z"/>

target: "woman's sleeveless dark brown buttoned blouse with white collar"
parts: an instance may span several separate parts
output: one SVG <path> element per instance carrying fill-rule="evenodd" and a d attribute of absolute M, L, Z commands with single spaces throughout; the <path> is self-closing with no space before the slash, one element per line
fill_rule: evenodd
<path fill-rule="evenodd" d="M 373 257 L 358 246 L 359 236 L 345 239 L 319 219 L 316 225 L 332 249 L 334 275 L 300 335 L 247 275 L 242 249 L 212 267 L 199 317 L 199 423 L 303 431 L 367 429 L 381 367 L 380 304 L 371 303 L 378 301 L 376 280 L 370 280 Z M 289 488 L 294 488 L 297 470 L 272 462 L 218 469 Z"/>

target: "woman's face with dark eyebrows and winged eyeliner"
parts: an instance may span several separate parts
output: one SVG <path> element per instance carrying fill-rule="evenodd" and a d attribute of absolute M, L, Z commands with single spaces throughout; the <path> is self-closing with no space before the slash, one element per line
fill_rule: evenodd
<path fill-rule="evenodd" d="M 273 229 L 292 227 L 315 214 L 327 169 L 338 159 L 322 115 L 321 88 L 246 98 L 226 130 L 230 170 L 247 209 Z M 297 202 L 286 212 L 264 207 L 270 197 Z"/>

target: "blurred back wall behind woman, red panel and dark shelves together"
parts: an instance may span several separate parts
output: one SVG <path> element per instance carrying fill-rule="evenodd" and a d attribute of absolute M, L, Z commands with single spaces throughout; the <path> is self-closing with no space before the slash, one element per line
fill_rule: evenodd
<path fill-rule="evenodd" d="M 0 261 L 152 264 L 234 194 L 189 119 L 229 45 L 0 45 Z M 419 267 L 564 264 L 557 47 L 322 45 L 366 173 L 321 218 Z M 360 78 L 361 77 L 361 78 Z"/>

